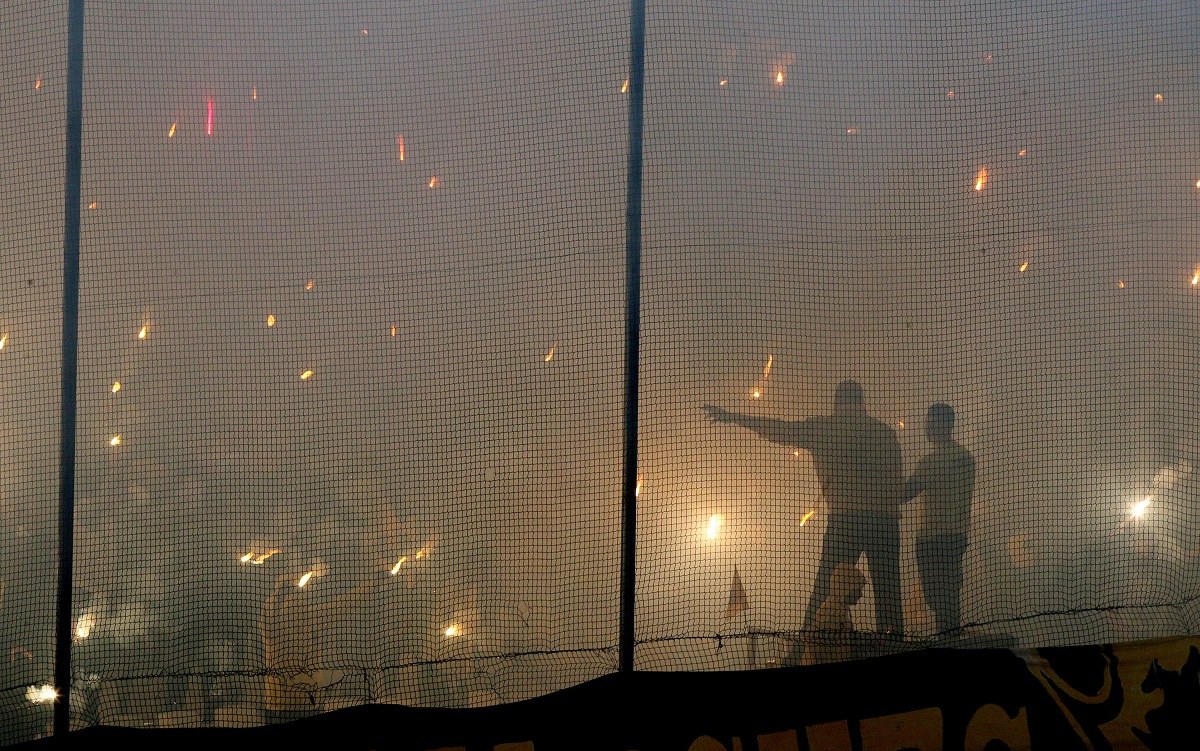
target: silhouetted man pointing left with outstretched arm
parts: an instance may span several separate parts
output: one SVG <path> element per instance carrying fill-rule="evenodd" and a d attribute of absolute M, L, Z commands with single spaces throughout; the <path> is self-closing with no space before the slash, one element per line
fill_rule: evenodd
<path fill-rule="evenodd" d="M 853 566 L 866 554 L 875 593 L 876 629 L 900 636 L 900 491 L 904 474 L 900 441 L 892 426 L 866 411 L 863 386 L 844 380 L 834 392 L 833 414 L 791 422 L 728 411 L 712 404 L 704 413 L 767 440 L 812 453 L 829 521 L 821 542 L 821 563 L 804 613 L 809 626 L 829 596 L 838 564 Z"/>

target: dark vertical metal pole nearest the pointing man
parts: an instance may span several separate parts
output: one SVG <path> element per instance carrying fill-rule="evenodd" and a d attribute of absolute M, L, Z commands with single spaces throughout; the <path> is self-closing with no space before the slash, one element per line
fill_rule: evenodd
<path fill-rule="evenodd" d="M 637 367 L 642 295 L 642 84 L 646 0 L 629 20 L 629 170 L 625 187 L 625 463 L 622 492 L 620 672 L 634 672 L 634 566 L 637 560 Z"/>

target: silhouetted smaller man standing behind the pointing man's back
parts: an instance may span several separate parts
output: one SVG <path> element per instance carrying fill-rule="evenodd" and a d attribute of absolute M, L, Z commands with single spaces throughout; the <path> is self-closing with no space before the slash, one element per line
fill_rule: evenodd
<path fill-rule="evenodd" d="M 960 625 L 962 553 L 967 549 L 974 494 L 974 457 L 954 440 L 953 433 L 954 408 L 941 402 L 931 404 L 925 415 L 925 438 L 934 450 L 920 459 L 904 488 L 905 501 L 925 494 L 917 533 L 917 571 L 941 633 Z"/>

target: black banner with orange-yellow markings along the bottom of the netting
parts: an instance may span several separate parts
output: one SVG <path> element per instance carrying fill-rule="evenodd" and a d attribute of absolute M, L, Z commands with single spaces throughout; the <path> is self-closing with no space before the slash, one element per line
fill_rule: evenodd
<path fill-rule="evenodd" d="M 1200 637 L 931 649 L 811 667 L 612 674 L 476 709 L 367 705 L 250 729 L 95 727 L 29 747 L 397 751 L 1200 749 Z M 281 745 L 282 744 L 282 745 Z"/>

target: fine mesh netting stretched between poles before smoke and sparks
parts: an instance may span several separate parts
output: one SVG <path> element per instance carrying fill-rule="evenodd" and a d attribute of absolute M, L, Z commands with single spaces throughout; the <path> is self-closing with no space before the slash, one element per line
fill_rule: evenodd
<path fill-rule="evenodd" d="M 50 720 L 66 86 L 10 5 L 0 743 Z M 72 727 L 617 669 L 629 19 L 89 5 Z M 1198 23 L 650 4 L 638 669 L 1195 632 Z"/>

